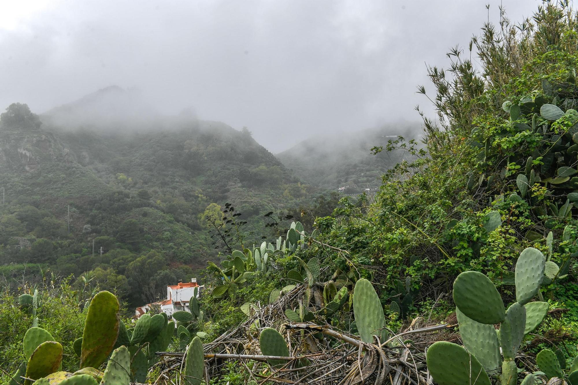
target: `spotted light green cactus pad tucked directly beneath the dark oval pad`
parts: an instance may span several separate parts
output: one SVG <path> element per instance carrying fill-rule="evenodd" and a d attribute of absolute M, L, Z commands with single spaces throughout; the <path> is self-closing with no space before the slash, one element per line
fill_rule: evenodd
<path fill-rule="evenodd" d="M 394 302 L 395 303 L 395 302 Z M 476 356 L 486 371 L 498 373 L 501 367 L 500 343 L 493 325 L 481 324 L 455 309 L 464 347 Z"/>

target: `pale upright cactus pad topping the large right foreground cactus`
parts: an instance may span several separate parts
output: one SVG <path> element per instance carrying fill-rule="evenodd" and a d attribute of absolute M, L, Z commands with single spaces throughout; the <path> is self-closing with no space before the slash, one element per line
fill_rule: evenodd
<path fill-rule="evenodd" d="M 527 247 L 516 262 L 516 300 L 525 305 L 538 294 L 544 277 L 546 258 L 538 249 Z"/>

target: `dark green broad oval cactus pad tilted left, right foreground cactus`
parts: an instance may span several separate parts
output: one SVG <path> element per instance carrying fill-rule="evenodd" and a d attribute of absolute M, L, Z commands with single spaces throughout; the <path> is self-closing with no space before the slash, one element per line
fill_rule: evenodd
<path fill-rule="evenodd" d="M 506 316 L 502 297 L 482 273 L 466 271 L 458 275 L 454 281 L 453 297 L 460 311 L 479 323 L 501 323 Z"/>

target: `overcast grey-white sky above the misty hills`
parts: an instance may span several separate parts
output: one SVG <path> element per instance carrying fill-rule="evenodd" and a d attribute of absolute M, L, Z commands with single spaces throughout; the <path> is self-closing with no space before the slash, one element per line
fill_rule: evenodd
<path fill-rule="evenodd" d="M 418 121 L 425 63 L 467 47 L 498 5 L 538 0 L 0 0 L 0 109 L 37 113 L 138 87 L 162 112 L 247 126 L 277 152 L 324 132 Z M 395 132 L 392 132 L 395 134 Z"/>

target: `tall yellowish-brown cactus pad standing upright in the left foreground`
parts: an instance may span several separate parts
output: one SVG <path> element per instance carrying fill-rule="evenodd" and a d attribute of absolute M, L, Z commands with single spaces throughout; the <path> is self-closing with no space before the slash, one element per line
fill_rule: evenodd
<path fill-rule="evenodd" d="M 92 298 L 84 321 L 80 368 L 98 368 L 112 351 L 118 337 L 118 299 L 108 291 Z"/>

